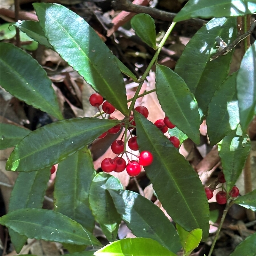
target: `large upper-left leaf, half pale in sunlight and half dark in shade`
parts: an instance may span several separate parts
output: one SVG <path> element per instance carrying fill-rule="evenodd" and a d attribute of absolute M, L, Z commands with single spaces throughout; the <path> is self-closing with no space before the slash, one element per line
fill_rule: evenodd
<path fill-rule="evenodd" d="M 114 55 L 89 24 L 59 4 L 33 4 L 44 35 L 92 88 L 128 115 L 123 76 Z M 56 33 L 58 31 L 58 33 Z"/>

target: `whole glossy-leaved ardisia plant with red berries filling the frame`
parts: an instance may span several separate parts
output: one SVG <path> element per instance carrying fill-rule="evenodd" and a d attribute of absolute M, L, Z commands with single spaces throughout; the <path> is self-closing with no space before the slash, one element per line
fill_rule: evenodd
<path fill-rule="evenodd" d="M 62 243 L 71 255 L 90 245 L 93 250 L 81 255 L 175 256 L 182 248 L 183 255 L 188 256 L 209 235 L 208 199 L 213 197 L 216 186 L 204 188 L 178 148 L 187 138 L 200 143 L 199 127 L 206 118 L 210 144 L 218 144 L 223 167 L 223 175 L 219 177 L 222 190 L 216 200 L 226 204 L 208 256 L 212 255 L 229 207 L 239 204 L 256 210 L 256 190 L 237 197 L 239 190 L 234 186 L 250 151 L 247 128 L 256 107 L 255 42 L 251 46 L 244 43 L 240 68 L 229 74 L 233 54 L 230 45 L 245 38 L 240 35 L 237 39 L 236 16 L 244 19 L 245 15 L 256 12 L 255 1 L 189 0 L 158 45 L 154 20 L 148 14 L 134 16 L 132 28 L 156 50 L 140 78 L 110 52 L 77 14 L 59 4 L 33 5 L 39 22 L 19 21 L 13 26 L 59 53 L 78 71 L 97 92 L 91 95 L 90 103 L 100 113 L 64 120 L 44 69 L 20 48 L 0 43 L 1 86 L 59 120 L 35 131 L 1 124 L 1 149 L 15 146 L 6 170 L 20 172 L 12 190 L 9 212 L 0 218 L 0 223 L 9 229 L 16 251 L 20 252 L 27 238 L 36 238 Z M 158 55 L 176 22 L 197 17 L 214 18 L 205 22 L 190 39 L 174 71 L 159 65 Z M 155 91 L 166 115 L 155 124 L 147 120 L 147 108 L 134 108 L 139 97 L 150 93 L 141 93 L 140 89 L 153 64 L 156 65 Z M 121 73 L 138 83 L 129 107 Z M 101 104 L 103 112 L 99 108 Z M 123 114 L 122 120 L 111 117 L 115 109 Z M 116 157 L 105 158 L 101 163 L 103 172 L 96 174 L 87 146 L 121 129 L 122 139 L 111 145 Z M 136 136 L 131 132 L 133 129 Z M 168 137 L 164 135 L 167 131 Z M 135 150 L 134 154 L 129 153 L 127 146 Z M 130 160 L 129 154 L 137 156 L 137 160 Z M 58 171 L 54 209 L 41 209 L 55 164 Z M 124 190 L 111 175 L 112 171 L 124 171 L 136 176 L 141 166 L 175 227 L 160 208 L 145 197 Z M 116 241 L 121 220 L 137 238 Z M 112 243 L 103 247 L 92 235 L 95 221 Z M 231 256 L 255 255 L 250 246 L 255 244 L 255 239 L 256 233 L 248 236 Z"/>

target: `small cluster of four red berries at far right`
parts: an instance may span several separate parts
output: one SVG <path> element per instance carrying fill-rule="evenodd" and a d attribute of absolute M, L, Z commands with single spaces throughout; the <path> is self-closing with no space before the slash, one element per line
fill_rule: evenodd
<path fill-rule="evenodd" d="M 225 183 L 226 180 L 225 180 L 225 177 L 224 177 L 224 174 L 223 172 L 220 172 L 219 175 L 218 175 L 218 181 L 220 183 Z M 206 194 L 206 197 L 207 199 L 211 199 L 213 197 L 213 191 L 214 189 L 211 189 L 211 188 L 204 188 L 204 191 L 205 191 L 205 194 Z M 239 195 L 239 189 L 234 186 L 230 192 L 228 193 L 228 195 L 230 197 L 237 197 Z M 227 203 L 227 192 L 223 190 L 219 191 L 216 193 L 216 202 L 218 204 L 226 204 Z"/>

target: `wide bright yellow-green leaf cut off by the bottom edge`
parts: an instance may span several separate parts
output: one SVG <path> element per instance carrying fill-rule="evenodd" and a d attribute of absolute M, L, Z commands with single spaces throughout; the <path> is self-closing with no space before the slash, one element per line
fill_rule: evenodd
<path fill-rule="evenodd" d="M 125 238 L 104 246 L 95 256 L 176 256 L 150 238 Z"/>

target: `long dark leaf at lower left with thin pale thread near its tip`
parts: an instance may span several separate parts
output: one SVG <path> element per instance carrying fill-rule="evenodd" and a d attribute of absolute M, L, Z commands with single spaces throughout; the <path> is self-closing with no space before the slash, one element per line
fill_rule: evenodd
<path fill-rule="evenodd" d="M 78 245 L 100 245 L 75 220 L 47 209 L 19 209 L 0 218 L 0 223 L 28 238 Z"/>

